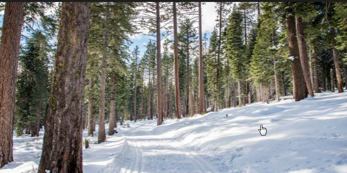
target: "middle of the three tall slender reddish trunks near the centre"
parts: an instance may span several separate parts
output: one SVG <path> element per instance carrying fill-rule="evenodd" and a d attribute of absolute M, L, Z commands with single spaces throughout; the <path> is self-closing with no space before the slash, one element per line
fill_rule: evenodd
<path fill-rule="evenodd" d="M 176 2 L 173 2 L 173 63 L 174 63 L 174 98 L 176 106 L 176 116 L 181 118 L 181 103 L 179 98 L 179 79 L 178 79 L 178 40 L 177 40 L 177 14 Z"/>

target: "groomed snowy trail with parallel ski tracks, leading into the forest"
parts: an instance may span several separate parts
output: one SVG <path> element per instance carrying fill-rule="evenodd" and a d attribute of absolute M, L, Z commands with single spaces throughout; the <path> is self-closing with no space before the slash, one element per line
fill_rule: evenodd
<path fill-rule="evenodd" d="M 194 150 L 180 146 L 174 139 L 163 138 L 153 134 L 154 123 L 141 123 L 126 133 L 126 145 L 131 152 L 131 159 L 122 167 L 110 172 L 144 173 L 144 172 L 190 172 L 190 173 L 217 173 Z M 179 165 L 179 166 L 178 166 Z M 105 170 L 103 170 L 105 171 Z"/>

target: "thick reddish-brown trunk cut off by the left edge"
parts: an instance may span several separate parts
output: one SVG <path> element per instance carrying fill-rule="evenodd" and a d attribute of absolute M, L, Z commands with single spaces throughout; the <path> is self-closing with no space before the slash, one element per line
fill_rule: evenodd
<path fill-rule="evenodd" d="M 13 117 L 24 2 L 6 2 L 0 46 L 0 168 L 13 161 Z"/>

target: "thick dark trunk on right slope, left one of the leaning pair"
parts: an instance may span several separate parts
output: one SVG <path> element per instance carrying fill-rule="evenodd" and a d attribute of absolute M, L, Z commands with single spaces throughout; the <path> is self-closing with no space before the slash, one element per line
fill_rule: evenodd
<path fill-rule="evenodd" d="M 298 40 L 296 38 L 295 30 L 295 18 L 291 15 L 287 15 L 286 25 L 289 43 L 289 55 L 294 57 L 294 60 L 291 62 L 294 83 L 293 96 L 295 101 L 300 101 L 307 97 L 307 92 L 303 69 L 300 63 Z"/>

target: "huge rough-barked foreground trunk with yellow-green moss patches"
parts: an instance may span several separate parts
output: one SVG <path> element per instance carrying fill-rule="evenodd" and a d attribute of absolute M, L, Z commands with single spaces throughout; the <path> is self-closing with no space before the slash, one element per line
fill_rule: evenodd
<path fill-rule="evenodd" d="M 82 173 L 90 2 L 63 2 L 39 173 Z"/>

